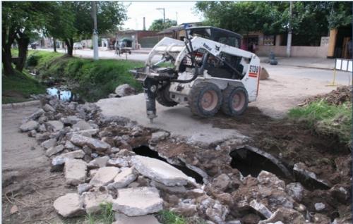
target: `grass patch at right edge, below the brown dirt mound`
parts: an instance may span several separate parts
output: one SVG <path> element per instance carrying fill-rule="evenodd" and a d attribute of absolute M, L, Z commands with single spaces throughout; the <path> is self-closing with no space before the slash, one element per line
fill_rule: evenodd
<path fill-rule="evenodd" d="M 318 134 L 338 137 L 343 144 L 352 143 L 352 103 L 335 106 L 326 101 L 311 102 L 307 106 L 293 108 L 289 118 L 304 121 Z"/>

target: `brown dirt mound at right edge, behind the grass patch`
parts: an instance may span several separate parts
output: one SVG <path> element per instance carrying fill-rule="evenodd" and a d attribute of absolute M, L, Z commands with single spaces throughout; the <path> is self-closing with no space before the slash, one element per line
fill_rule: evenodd
<path fill-rule="evenodd" d="M 341 105 L 347 101 L 352 102 L 352 86 L 346 85 L 346 86 L 337 87 L 337 89 L 329 92 L 328 94 L 322 94 L 322 95 L 310 97 L 306 99 L 299 106 L 304 106 L 304 105 L 310 104 L 313 101 L 319 101 L 322 99 L 324 101 L 327 101 L 328 104 L 333 104 L 333 105 Z"/>

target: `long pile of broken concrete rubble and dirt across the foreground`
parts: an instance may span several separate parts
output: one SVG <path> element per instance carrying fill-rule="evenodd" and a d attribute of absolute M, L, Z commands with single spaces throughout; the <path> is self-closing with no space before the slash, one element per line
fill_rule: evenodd
<path fill-rule="evenodd" d="M 52 160 L 52 171 L 63 172 L 66 184 L 77 188 L 54 201 L 61 216 L 98 213 L 100 204 L 112 203 L 115 223 L 158 223 L 151 214 L 162 210 L 206 223 L 330 223 L 320 213 L 325 204 L 318 204 L 318 211 L 309 216 L 301 204 L 306 189 L 298 182 L 286 185 L 262 171 L 257 178 L 222 173 L 197 183 L 169 163 L 133 151 L 171 138 L 167 132 L 126 118 L 104 118 L 95 104 L 55 97 L 44 97 L 41 104 L 20 130 L 41 144 Z M 345 220 L 337 218 L 335 223 Z"/>

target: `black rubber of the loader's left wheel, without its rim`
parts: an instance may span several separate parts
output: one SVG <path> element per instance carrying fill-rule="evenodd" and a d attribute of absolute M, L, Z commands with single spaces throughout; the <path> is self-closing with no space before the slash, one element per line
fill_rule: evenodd
<path fill-rule="evenodd" d="M 205 110 L 202 106 L 203 95 L 206 92 L 214 91 L 217 95 L 217 102 L 215 102 L 215 107 L 211 110 Z M 201 82 L 198 83 L 191 89 L 189 94 L 189 107 L 191 112 L 196 116 L 201 116 L 204 118 L 208 118 L 214 116 L 220 110 L 220 106 L 222 105 L 222 92 L 217 85 L 212 82 Z"/>

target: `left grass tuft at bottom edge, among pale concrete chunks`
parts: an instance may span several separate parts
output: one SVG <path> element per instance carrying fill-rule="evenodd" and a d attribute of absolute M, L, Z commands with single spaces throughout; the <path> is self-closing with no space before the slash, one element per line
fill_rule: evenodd
<path fill-rule="evenodd" d="M 111 224 L 114 221 L 114 211 L 112 203 L 100 204 L 101 212 L 98 214 L 88 214 L 86 220 L 89 224 L 102 223 Z"/>

